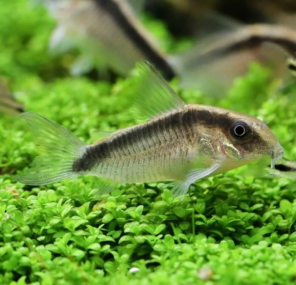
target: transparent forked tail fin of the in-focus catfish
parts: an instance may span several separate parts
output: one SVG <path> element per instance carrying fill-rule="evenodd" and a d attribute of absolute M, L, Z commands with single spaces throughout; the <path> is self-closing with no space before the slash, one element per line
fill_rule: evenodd
<path fill-rule="evenodd" d="M 43 154 L 33 160 L 26 173 L 15 177 L 16 181 L 27 185 L 45 185 L 80 175 L 72 166 L 84 152 L 84 142 L 66 127 L 44 116 L 26 112 L 21 117 L 31 128 L 35 143 Z"/>

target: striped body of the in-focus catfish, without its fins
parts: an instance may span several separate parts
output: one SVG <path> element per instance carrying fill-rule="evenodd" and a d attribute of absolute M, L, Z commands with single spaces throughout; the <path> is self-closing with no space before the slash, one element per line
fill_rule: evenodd
<path fill-rule="evenodd" d="M 268 140 L 257 140 L 235 146 L 224 125 L 252 121 L 253 132 L 268 133 L 258 119 L 223 108 L 187 105 L 149 122 L 129 127 L 118 135 L 90 145 L 75 164 L 77 171 L 113 179 L 121 183 L 161 181 L 186 175 L 194 161 L 206 157 L 208 166 L 223 162 L 212 175 L 242 166 L 259 158 L 272 147 Z M 272 137 L 274 139 L 274 137 Z M 237 143 L 236 143 L 237 144 Z M 257 152 L 250 152 L 257 149 Z M 279 153 L 282 148 L 278 145 Z M 278 156 L 278 155 L 277 155 Z M 233 159 L 234 158 L 234 159 Z M 205 162 L 205 161 L 204 161 Z"/>

